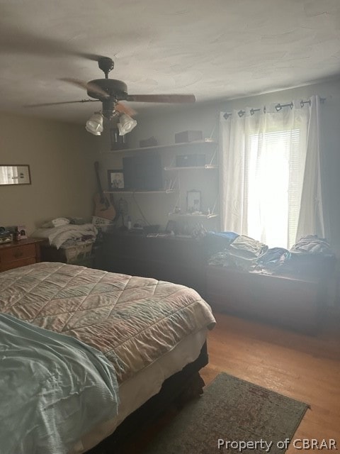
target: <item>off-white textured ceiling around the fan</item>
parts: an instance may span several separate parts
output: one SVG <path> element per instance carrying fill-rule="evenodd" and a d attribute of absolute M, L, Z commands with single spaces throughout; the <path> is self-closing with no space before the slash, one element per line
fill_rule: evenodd
<path fill-rule="evenodd" d="M 58 79 L 103 77 L 91 54 L 113 58 L 130 94 L 200 103 L 297 87 L 340 76 L 340 0 L 0 0 L 0 110 L 88 98 Z M 84 122 L 95 106 L 29 112 Z"/>

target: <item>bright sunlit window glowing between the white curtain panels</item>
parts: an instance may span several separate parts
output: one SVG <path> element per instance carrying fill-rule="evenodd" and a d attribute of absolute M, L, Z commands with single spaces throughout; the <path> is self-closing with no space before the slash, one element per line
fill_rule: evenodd
<path fill-rule="evenodd" d="M 295 242 L 303 182 L 300 129 L 249 135 L 247 231 L 269 247 Z"/>

